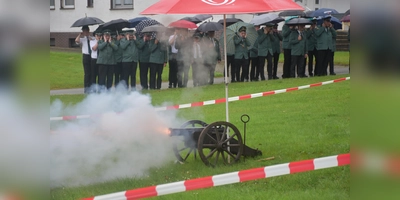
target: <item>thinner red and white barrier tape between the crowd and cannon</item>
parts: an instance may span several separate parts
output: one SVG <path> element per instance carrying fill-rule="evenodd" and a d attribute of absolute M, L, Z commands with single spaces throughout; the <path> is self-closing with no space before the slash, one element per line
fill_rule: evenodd
<path fill-rule="evenodd" d="M 303 85 L 303 86 L 298 86 L 298 87 L 293 87 L 293 88 L 281 89 L 281 90 L 272 90 L 272 91 L 268 91 L 268 92 L 260 92 L 260 93 L 254 93 L 254 94 L 246 94 L 246 95 L 242 95 L 242 96 L 229 97 L 228 102 L 252 99 L 252 98 L 257 98 L 257 97 L 264 97 L 264 96 L 269 96 L 269 95 L 274 95 L 274 94 L 281 94 L 281 93 L 286 93 L 286 92 L 291 92 L 291 91 L 313 88 L 313 87 L 322 86 L 322 85 L 328 85 L 328 84 L 332 84 L 332 83 L 338 83 L 338 82 L 347 81 L 347 80 L 350 80 L 350 77 L 339 78 L 339 79 L 335 79 L 335 80 L 319 82 L 319 83 L 314 83 L 314 84 L 310 84 L 310 85 Z M 198 107 L 198 106 L 208 106 L 208 105 L 225 103 L 226 102 L 225 100 L 226 100 L 225 98 L 221 98 L 221 99 L 216 99 L 216 100 L 208 100 L 208 101 L 180 104 L 180 105 L 174 105 L 174 106 L 158 107 L 155 109 L 156 109 L 156 111 L 165 111 L 165 110 L 192 108 L 192 107 Z M 85 119 L 85 118 L 90 118 L 90 117 L 95 117 L 95 116 L 99 116 L 99 115 L 50 117 L 50 121 Z"/>

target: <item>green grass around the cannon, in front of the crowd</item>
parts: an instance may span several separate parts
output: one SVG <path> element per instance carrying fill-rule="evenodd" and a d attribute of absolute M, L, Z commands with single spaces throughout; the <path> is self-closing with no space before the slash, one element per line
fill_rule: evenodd
<path fill-rule="evenodd" d="M 285 79 L 229 85 L 229 96 L 283 89 L 326 81 L 342 76 Z M 201 88 L 149 91 L 152 104 L 182 104 L 224 97 L 224 85 Z M 51 96 L 66 104 L 76 104 L 84 95 Z M 152 168 L 148 176 L 126 178 L 74 188 L 54 188 L 52 199 L 75 200 L 134 188 L 243 169 L 281 164 L 350 152 L 350 81 L 268 97 L 231 102 L 230 121 L 243 133 L 242 114 L 250 116 L 246 143 L 263 152 L 232 166 L 209 168 L 200 159 L 189 158 L 179 165 L 166 163 Z M 85 113 L 76 113 L 85 114 Z M 225 120 L 225 104 L 178 110 L 183 119 L 211 123 Z M 151 147 L 149 147 L 151 148 Z M 172 150 L 171 150 L 172 154 Z M 261 158 L 275 157 L 269 161 Z M 260 179 L 158 197 L 157 199 L 350 199 L 350 167 Z M 154 198 L 156 199 L 156 198 Z"/>

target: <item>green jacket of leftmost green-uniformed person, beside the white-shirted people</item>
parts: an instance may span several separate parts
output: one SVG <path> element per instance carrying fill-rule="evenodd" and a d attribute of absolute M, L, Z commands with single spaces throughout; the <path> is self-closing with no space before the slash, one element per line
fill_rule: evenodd
<path fill-rule="evenodd" d="M 114 52 L 118 50 L 118 46 L 112 41 L 111 43 L 99 40 L 97 46 L 99 51 L 99 57 L 97 58 L 97 64 L 99 65 L 116 65 Z"/>

